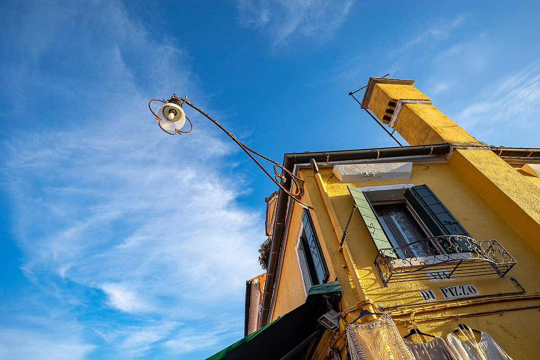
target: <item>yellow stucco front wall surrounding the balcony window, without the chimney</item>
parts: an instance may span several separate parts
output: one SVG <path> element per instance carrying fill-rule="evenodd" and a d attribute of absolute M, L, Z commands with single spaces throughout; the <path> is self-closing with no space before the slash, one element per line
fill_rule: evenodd
<path fill-rule="evenodd" d="M 316 185 L 312 179 L 313 175 L 309 174 L 311 172 L 309 169 L 306 169 L 304 172 L 307 191 L 311 194 L 312 201 L 315 202 L 315 198 L 319 198 L 320 195 L 318 195 Z M 385 288 L 373 264 L 376 256 L 373 241 L 360 216 L 355 214 L 349 227 L 347 241 L 354 261 L 360 267 L 362 282 L 368 296 L 376 303 L 380 303 L 383 306 L 392 306 L 422 302 L 423 299 L 418 292 L 421 289 L 433 289 L 439 300 L 444 300 L 438 288 L 457 284 L 474 284 L 481 295 L 519 291 L 516 284 L 508 280 L 510 276 L 516 277 L 525 289 L 528 290 L 528 294 L 536 293 L 540 290 L 540 267 L 538 266 L 540 255 L 449 164 L 414 165 L 410 180 L 342 183 L 331 175 L 331 168 L 321 169 L 322 178 L 325 180 L 329 179 L 326 188 L 342 227 L 345 227 L 350 209 L 353 206 L 353 200 L 347 190 L 347 185 L 360 187 L 407 182 L 413 182 L 415 185 L 427 184 L 474 239 L 498 240 L 518 262 L 505 277 L 492 274 L 437 282 L 429 280 L 409 281 L 390 283 Z M 322 202 L 322 199 L 319 201 Z M 323 206 L 315 207 L 317 218 L 328 217 L 325 212 L 326 210 Z M 331 226 L 327 228 L 331 229 Z M 343 262 L 333 233 L 326 232 L 326 235 L 319 236 L 319 239 L 326 244 L 328 255 L 325 254 L 325 257 L 327 259 L 332 259 L 333 263 Z M 353 305 L 357 301 L 356 295 L 353 291 L 347 291 L 345 293 L 347 281 L 342 281 L 342 279 L 347 279 L 347 277 L 340 276 L 340 283 L 344 289 L 343 298 L 347 306 Z M 350 290 L 350 288 L 347 288 L 347 290 Z M 450 311 L 442 311 L 435 314 L 488 311 L 531 304 L 538 304 L 538 301 L 491 303 L 475 307 L 451 309 Z M 529 351 L 537 349 L 538 345 L 534 341 L 537 334 L 540 333 L 540 315 L 537 309 L 514 311 L 512 313 L 505 313 L 503 316 L 491 315 L 467 318 L 463 322 L 469 324 L 471 327 L 488 332 L 514 358 L 527 358 L 526 354 L 530 354 Z M 448 332 L 455 329 L 456 325 L 457 322 L 453 320 L 420 323 L 423 331 L 439 336 L 446 336 Z M 399 329 L 403 332 L 403 335 L 408 332 L 408 329 L 403 326 L 400 326 Z M 520 338 L 519 343 L 516 343 L 516 337 Z"/>

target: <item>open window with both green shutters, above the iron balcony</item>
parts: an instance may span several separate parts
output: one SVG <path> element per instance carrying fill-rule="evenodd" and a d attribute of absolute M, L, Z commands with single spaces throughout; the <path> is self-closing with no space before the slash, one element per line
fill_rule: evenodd
<path fill-rule="evenodd" d="M 474 251 L 474 244 L 467 240 L 470 237 L 467 230 L 431 189 L 427 185 L 411 185 L 363 190 L 348 187 L 377 250 L 397 248 L 385 253 L 393 259 Z M 394 200 L 384 205 L 374 201 L 384 200 L 385 194 Z M 445 235 L 458 236 L 450 240 Z M 441 237 L 423 241 L 431 236 Z"/>

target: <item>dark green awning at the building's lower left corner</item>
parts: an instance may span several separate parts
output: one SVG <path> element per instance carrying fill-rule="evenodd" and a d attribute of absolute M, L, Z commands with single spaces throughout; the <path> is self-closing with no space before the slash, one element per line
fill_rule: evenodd
<path fill-rule="evenodd" d="M 240 339 L 207 360 L 281 359 L 321 326 L 317 319 L 328 310 L 326 300 L 322 295 L 340 296 L 339 283 L 334 281 L 313 286 L 309 289 L 306 302 L 298 308 Z M 303 351 L 299 351 L 292 359 L 302 357 Z"/>

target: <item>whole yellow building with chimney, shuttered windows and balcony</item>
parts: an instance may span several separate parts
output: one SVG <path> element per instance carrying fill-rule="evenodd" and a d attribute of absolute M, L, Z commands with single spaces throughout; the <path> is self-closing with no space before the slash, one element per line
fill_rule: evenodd
<path fill-rule="evenodd" d="M 339 329 L 283 358 L 324 359 L 333 347 L 345 359 L 347 323 L 361 310 L 390 315 L 401 336 L 446 338 L 462 323 L 514 359 L 540 358 L 540 149 L 478 141 L 412 80 L 370 78 L 361 106 L 410 146 L 285 154 L 308 207 L 283 191 L 267 207 L 259 327 L 285 323 L 276 319 L 305 308 L 313 286 L 336 280 L 341 296 L 328 304 Z"/>

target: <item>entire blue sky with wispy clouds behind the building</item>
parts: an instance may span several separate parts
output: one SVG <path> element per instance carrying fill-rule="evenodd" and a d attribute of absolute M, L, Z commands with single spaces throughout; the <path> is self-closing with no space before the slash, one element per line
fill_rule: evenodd
<path fill-rule="evenodd" d="M 490 145 L 539 147 L 537 2 L 0 5 L 0 358 L 205 358 L 243 335 L 276 187 L 248 146 L 394 146 L 348 92 L 416 80 Z M 26 124 L 25 126 L 21 126 Z"/>

